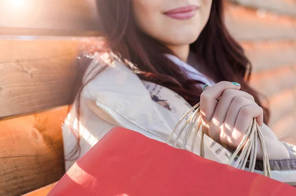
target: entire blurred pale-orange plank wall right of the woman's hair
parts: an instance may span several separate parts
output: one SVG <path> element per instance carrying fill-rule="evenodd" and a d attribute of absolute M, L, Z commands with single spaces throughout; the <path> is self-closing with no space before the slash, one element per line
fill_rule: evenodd
<path fill-rule="evenodd" d="M 225 22 L 253 64 L 251 85 L 269 99 L 269 125 L 296 144 L 296 1 L 230 1 Z"/>

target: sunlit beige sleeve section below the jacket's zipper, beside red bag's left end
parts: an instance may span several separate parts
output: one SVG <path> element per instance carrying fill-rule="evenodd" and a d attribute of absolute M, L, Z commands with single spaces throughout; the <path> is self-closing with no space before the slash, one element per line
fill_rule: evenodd
<path fill-rule="evenodd" d="M 62 127 L 66 171 L 116 126 L 115 121 L 84 91 L 79 120 L 74 105 Z"/>

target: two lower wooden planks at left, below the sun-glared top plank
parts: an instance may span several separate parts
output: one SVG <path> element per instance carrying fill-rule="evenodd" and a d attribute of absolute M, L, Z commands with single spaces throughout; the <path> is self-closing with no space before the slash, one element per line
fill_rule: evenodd
<path fill-rule="evenodd" d="M 61 128 L 85 70 L 78 43 L 0 39 L 0 196 L 63 176 Z"/>

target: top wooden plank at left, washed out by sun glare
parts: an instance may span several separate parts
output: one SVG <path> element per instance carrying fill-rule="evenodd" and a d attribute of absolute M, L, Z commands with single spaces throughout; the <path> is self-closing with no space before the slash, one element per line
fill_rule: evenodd
<path fill-rule="evenodd" d="M 0 35 L 87 36 L 100 31 L 95 0 L 1 0 L 0 16 Z"/>

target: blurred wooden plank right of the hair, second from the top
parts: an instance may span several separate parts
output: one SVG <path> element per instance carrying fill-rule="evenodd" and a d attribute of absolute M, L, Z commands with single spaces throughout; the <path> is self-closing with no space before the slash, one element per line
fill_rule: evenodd
<path fill-rule="evenodd" d="M 296 18 L 260 15 L 257 10 L 227 3 L 225 24 L 239 41 L 296 39 Z"/>

